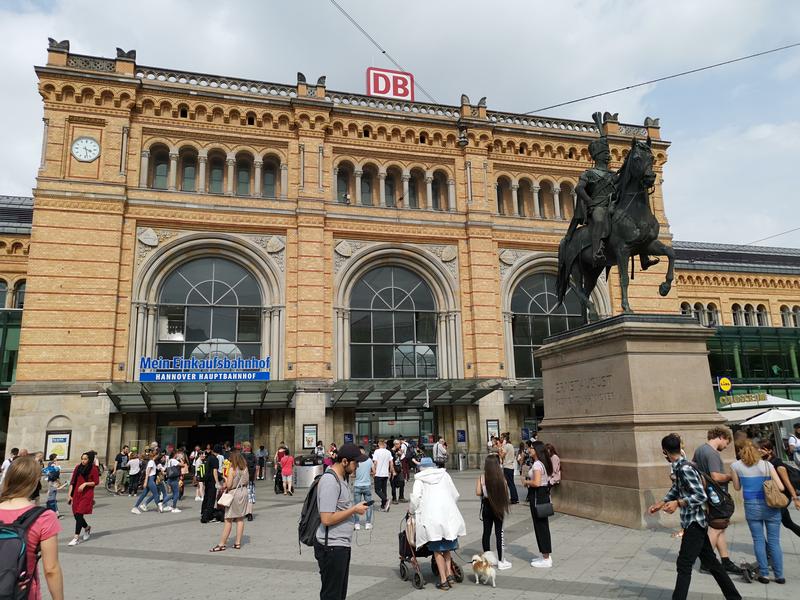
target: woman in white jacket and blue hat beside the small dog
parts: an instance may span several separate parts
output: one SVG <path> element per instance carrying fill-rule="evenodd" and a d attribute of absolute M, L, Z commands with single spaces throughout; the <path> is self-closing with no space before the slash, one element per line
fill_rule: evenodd
<path fill-rule="evenodd" d="M 409 512 L 414 515 L 417 548 L 428 544 L 434 553 L 440 582 L 436 587 L 448 590 L 455 582 L 450 551 L 458 548 L 458 538 L 467 535 L 464 517 L 458 510 L 458 490 L 444 469 L 434 469 L 433 460 L 420 461 L 414 476 Z"/>

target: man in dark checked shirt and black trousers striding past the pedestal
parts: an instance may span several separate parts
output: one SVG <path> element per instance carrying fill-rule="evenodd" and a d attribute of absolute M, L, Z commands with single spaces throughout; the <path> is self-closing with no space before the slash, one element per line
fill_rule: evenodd
<path fill-rule="evenodd" d="M 660 510 L 673 514 L 680 508 L 681 526 L 684 529 L 681 549 L 678 552 L 678 578 L 672 592 L 673 600 L 685 600 L 692 581 L 692 566 L 700 558 L 700 564 L 708 569 L 722 590 L 726 600 L 741 600 L 722 563 L 717 560 L 708 539 L 706 516 L 706 491 L 697 469 L 681 454 L 681 438 L 671 433 L 661 440 L 661 450 L 667 462 L 672 464 L 672 487 L 661 502 L 650 507 L 650 514 Z"/>

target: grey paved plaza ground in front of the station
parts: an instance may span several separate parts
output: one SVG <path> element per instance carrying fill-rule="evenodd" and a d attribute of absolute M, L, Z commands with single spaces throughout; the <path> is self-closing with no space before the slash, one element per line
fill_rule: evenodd
<path fill-rule="evenodd" d="M 482 524 L 479 500 L 474 495 L 477 472 L 455 473 L 461 492 L 459 507 L 467 522 L 461 540 L 463 562 L 480 551 Z M 62 520 L 60 556 L 66 598 L 114 600 L 169 598 L 289 598 L 313 599 L 319 594 L 319 575 L 313 551 L 298 553 L 297 520 L 305 495 L 276 496 L 270 482 L 258 482 L 255 520 L 246 523 L 241 550 L 211 554 L 221 524 L 202 525 L 200 502 L 194 489 L 181 502 L 183 512 L 158 514 L 150 510 L 133 515 L 128 497 L 113 497 L 100 489 L 96 512 L 89 518 L 95 533 L 89 542 L 67 547 L 73 520 Z M 67 509 L 66 502 L 60 506 Z M 350 600 L 438 598 L 442 592 L 431 582 L 430 560 L 423 561 L 428 584 L 415 590 L 398 575 L 397 532 L 406 505 L 394 505 L 388 514 L 376 512 L 372 532 L 357 532 L 350 570 Z M 449 592 L 450 597 L 484 599 L 526 598 L 669 598 L 675 579 L 679 542 L 670 530 L 634 531 L 575 517 L 551 519 L 553 558 L 550 570 L 533 569 L 529 561 L 536 549 L 530 512 L 526 504 L 512 507 L 506 527 L 507 557 L 513 568 L 501 571 L 497 588 L 476 586 L 469 580 Z M 800 517 L 800 513 L 798 513 Z M 734 525 L 729 541 L 735 561 L 753 560 L 750 533 L 745 524 Z M 734 581 L 745 598 L 793 598 L 800 580 L 800 539 L 781 532 L 788 585 Z M 46 588 L 46 586 L 45 586 Z M 720 598 L 713 579 L 695 571 L 690 598 Z M 45 591 L 45 597 L 49 598 Z"/>

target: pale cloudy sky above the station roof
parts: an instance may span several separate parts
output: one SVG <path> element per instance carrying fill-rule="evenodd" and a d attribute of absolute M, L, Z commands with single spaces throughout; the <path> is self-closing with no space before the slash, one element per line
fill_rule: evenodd
<path fill-rule="evenodd" d="M 527 112 L 800 42 L 800 3 L 768 0 L 337 0 L 436 101 Z M 393 68 L 329 0 L 0 0 L 0 194 L 30 195 L 47 38 L 139 64 L 365 92 Z M 427 99 L 417 88 L 417 99 Z M 551 111 L 661 119 L 678 240 L 747 244 L 800 228 L 800 47 Z M 800 229 L 761 242 L 800 247 Z"/>

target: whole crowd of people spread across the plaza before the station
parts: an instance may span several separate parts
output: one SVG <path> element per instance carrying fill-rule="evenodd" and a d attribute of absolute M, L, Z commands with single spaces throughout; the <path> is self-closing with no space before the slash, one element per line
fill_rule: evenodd
<path fill-rule="evenodd" d="M 734 437 L 725 427 L 709 430 L 707 442 L 695 449 L 688 460 L 678 434 L 662 440 L 662 452 L 670 463 L 672 487 L 661 502 L 649 512 L 680 512 L 681 547 L 677 559 L 674 598 L 685 598 L 692 567 L 699 558 L 701 572 L 711 574 L 725 598 L 740 598 L 730 576 L 742 567 L 730 557 L 726 528 L 729 519 L 713 518 L 709 511 L 714 496 L 727 496 L 728 486 L 741 490 L 744 517 L 751 532 L 757 580 L 778 584 L 786 582 L 780 545 L 781 525 L 800 536 L 789 507 L 800 510 L 800 469 L 794 460 L 783 461 L 769 439 L 754 440 L 746 435 Z M 794 445 L 791 443 L 794 439 Z M 735 444 L 737 460 L 726 468 L 722 453 Z M 538 555 L 531 566 L 553 566 L 553 540 L 549 518 L 553 515 L 551 493 L 561 482 L 561 460 L 557 450 L 537 439 L 515 447 L 508 433 L 489 441 L 488 454 L 475 480 L 475 494 L 480 498 L 483 532 L 481 546 L 491 552 L 492 539 L 496 567 L 512 567 L 505 547 L 504 524 L 512 507 L 521 501 L 529 505 Z M 796 437 L 790 438 L 790 457 L 800 458 L 800 423 Z M 434 557 L 439 581 L 436 587 L 451 589 L 455 583 L 453 551 L 466 535 L 466 523 L 458 508 L 459 493 L 447 472 L 447 443 L 439 438 L 426 452 L 423 445 L 402 436 L 377 440 L 373 447 L 352 443 L 327 448 L 319 442 L 312 458 L 321 462 L 324 473 L 312 487 L 319 512 L 314 554 L 321 575 L 321 598 L 344 598 L 350 548 L 354 532 L 371 530 L 374 513 L 389 512 L 392 506 L 407 503 L 404 511 L 415 522 L 414 544 L 425 547 Z M 286 444 L 279 444 L 274 455 L 264 446 L 253 452 L 250 443 L 236 447 L 230 443 L 186 448 L 162 449 L 157 443 L 138 451 L 124 446 L 111 466 L 113 493 L 135 497 L 131 512 L 140 515 L 155 506 L 159 513 L 179 513 L 179 503 L 187 486 L 195 487 L 194 499 L 201 502 L 202 523 L 221 522 L 218 543 L 210 551 L 223 552 L 233 534 L 232 548 L 242 548 L 245 522 L 253 520 L 255 482 L 267 477 L 270 459 L 275 469 L 275 493 L 294 493 L 293 480 L 297 458 Z M 12 449 L 0 467 L 0 523 L 23 522 L 28 515 L 26 532 L 29 548 L 41 555 L 43 573 L 51 596 L 63 598 L 61 569 L 58 563 L 57 535 L 59 492 L 67 489 L 66 504 L 74 518 L 74 535 L 67 544 L 89 541 L 95 488 L 100 484 L 96 453 L 80 457 L 68 481 L 62 480 L 62 467 L 55 455 L 44 463 L 41 453 L 30 455 L 25 449 Z M 333 477 L 326 477 L 326 474 Z M 47 487 L 45 506 L 37 508 L 43 484 Z M 410 494 L 406 495 L 407 485 Z M 110 484 L 111 485 L 111 484 Z M 388 487 L 391 488 L 391 495 Z M 519 490 L 525 493 L 520 495 Z M 373 508 L 373 490 L 377 497 Z M 311 493 L 311 492 L 310 492 Z M 522 497 L 521 497 L 522 496 Z M 781 500 L 783 498 L 783 500 Z M 37 508 L 36 513 L 32 509 Z M 721 522 L 722 521 L 722 522 Z M 29 556 L 30 598 L 40 597 L 36 575 L 37 556 Z M 32 562 L 30 562 L 32 561 Z"/>

